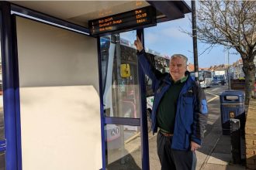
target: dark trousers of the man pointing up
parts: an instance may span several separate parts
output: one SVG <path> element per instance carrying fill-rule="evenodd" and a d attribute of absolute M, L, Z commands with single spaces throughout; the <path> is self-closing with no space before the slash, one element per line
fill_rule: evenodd
<path fill-rule="evenodd" d="M 181 151 L 171 148 L 172 137 L 157 133 L 157 155 L 160 159 L 161 170 L 195 170 L 195 151 Z"/>

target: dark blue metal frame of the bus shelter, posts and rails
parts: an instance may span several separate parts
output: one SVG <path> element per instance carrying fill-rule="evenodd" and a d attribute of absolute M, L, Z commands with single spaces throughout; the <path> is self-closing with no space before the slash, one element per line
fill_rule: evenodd
<path fill-rule="evenodd" d="M 166 8 L 166 5 L 160 2 L 149 2 L 155 8 Z M 164 3 L 164 2 L 163 2 Z M 176 15 L 170 12 L 172 19 L 184 17 L 183 13 L 190 12 L 190 8 L 185 2 L 165 2 L 173 7 Z M 171 3 L 171 4 L 170 4 Z M 176 4 L 174 4 L 176 3 Z M 17 53 L 17 37 L 16 37 L 16 16 L 26 19 L 33 19 L 37 22 L 43 22 L 47 25 L 56 26 L 61 29 L 67 29 L 71 32 L 78 32 L 85 36 L 90 36 L 88 28 L 67 22 L 63 19 L 57 19 L 33 9 L 25 8 L 10 2 L 0 2 L 0 25 L 1 25 L 1 53 L 2 53 L 2 76 L 3 76 L 3 102 L 4 102 L 4 118 L 5 118 L 5 140 L 0 141 L 0 151 L 5 151 L 6 169 L 22 170 L 22 146 L 21 146 L 21 124 L 20 124 L 20 101 L 19 101 L 19 63 Z M 170 14 L 164 14 L 166 16 Z M 164 22 L 171 19 L 157 19 L 157 22 Z M 137 35 L 144 42 L 144 29 L 137 30 Z M 104 126 L 106 124 L 128 124 L 141 127 L 141 158 L 143 169 L 149 169 L 148 158 L 148 141 L 147 141 L 147 114 L 146 113 L 146 97 L 140 97 L 140 118 L 119 118 L 104 117 L 103 100 L 102 100 L 102 77 L 101 60 L 100 60 L 100 42 L 97 38 L 98 46 L 98 62 L 99 62 L 99 94 L 100 94 L 100 114 L 101 114 L 101 134 L 102 134 L 102 169 L 106 169 L 105 158 L 105 133 Z M 139 84 L 140 93 L 145 93 L 145 75 L 139 65 Z"/>

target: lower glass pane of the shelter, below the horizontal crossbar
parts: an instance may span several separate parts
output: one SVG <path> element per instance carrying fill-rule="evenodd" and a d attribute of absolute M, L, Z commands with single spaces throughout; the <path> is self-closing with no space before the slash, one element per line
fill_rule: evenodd
<path fill-rule="evenodd" d="M 107 124 L 105 133 L 107 169 L 141 169 L 140 127 Z"/>

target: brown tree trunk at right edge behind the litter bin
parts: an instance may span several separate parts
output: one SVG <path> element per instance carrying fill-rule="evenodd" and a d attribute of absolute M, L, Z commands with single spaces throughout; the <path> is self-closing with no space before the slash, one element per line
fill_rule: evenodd
<path fill-rule="evenodd" d="M 245 75 L 245 105 L 249 105 L 251 98 L 251 91 L 254 90 L 255 81 L 255 65 L 253 60 L 248 61 L 243 59 L 243 71 Z"/>

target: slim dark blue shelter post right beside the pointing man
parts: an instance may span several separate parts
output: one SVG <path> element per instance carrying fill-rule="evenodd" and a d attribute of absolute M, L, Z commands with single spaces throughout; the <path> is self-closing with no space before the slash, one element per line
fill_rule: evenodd
<path fill-rule="evenodd" d="M 137 30 L 141 42 L 144 46 L 144 29 Z M 148 131 L 147 131 L 147 100 L 146 100 L 146 84 L 145 74 L 142 67 L 138 63 L 138 74 L 140 84 L 140 128 L 141 128 L 141 158 L 142 169 L 149 170 L 149 151 L 148 151 Z"/>

